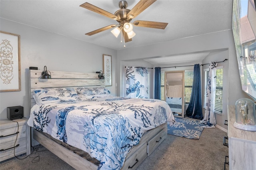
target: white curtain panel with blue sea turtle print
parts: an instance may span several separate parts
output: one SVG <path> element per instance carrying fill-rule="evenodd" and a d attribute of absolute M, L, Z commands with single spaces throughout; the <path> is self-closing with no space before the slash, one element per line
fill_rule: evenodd
<path fill-rule="evenodd" d="M 126 66 L 126 97 L 148 98 L 148 68 Z"/>

